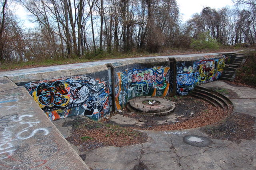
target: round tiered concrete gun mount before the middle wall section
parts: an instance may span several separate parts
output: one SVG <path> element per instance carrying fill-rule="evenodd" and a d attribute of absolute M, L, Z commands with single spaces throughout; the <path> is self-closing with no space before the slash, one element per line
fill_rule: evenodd
<path fill-rule="evenodd" d="M 157 104 L 153 104 L 150 101 L 155 101 Z M 149 104 L 150 103 L 150 104 Z M 128 104 L 132 109 L 141 112 L 143 115 L 168 115 L 175 109 L 175 102 L 168 99 L 142 96 L 136 97 L 128 101 Z"/>

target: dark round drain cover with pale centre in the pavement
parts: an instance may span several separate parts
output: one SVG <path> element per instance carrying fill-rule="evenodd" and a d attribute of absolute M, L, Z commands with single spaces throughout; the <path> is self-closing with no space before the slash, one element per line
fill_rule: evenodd
<path fill-rule="evenodd" d="M 206 147 L 212 144 L 212 140 L 210 140 L 209 138 L 194 134 L 184 136 L 183 141 L 186 144 L 197 147 Z"/>

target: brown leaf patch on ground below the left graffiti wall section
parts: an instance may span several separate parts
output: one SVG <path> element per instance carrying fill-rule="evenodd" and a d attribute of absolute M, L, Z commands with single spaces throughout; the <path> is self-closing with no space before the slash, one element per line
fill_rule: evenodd
<path fill-rule="evenodd" d="M 102 146 L 128 146 L 146 141 L 146 134 L 137 130 L 90 122 L 88 119 L 80 121 L 80 125 L 72 130 L 72 135 L 66 138 L 68 142 L 83 146 L 83 151 Z"/>

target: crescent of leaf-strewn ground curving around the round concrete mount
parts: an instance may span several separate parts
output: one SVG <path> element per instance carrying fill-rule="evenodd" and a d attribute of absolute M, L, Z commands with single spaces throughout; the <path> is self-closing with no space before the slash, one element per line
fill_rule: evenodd
<path fill-rule="evenodd" d="M 187 128 L 196 128 L 216 123 L 226 117 L 223 109 L 214 107 L 210 103 L 197 99 L 191 96 L 175 96 L 169 98 L 176 102 L 174 113 L 166 116 L 147 116 L 140 113 L 130 113 L 127 110 L 123 111 L 125 117 L 133 118 L 134 121 L 142 120 L 142 125 L 128 125 L 125 122 L 116 123 L 115 116 L 111 119 L 104 120 L 105 123 L 119 125 L 122 127 L 132 127 L 140 130 L 178 130 Z"/>

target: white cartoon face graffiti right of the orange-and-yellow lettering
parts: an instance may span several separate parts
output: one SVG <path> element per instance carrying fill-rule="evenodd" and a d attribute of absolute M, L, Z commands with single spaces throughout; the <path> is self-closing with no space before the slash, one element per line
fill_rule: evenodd
<path fill-rule="evenodd" d="M 83 103 L 89 97 L 90 89 L 79 82 L 70 83 L 70 103 Z"/>

